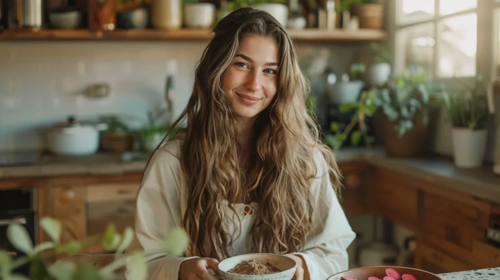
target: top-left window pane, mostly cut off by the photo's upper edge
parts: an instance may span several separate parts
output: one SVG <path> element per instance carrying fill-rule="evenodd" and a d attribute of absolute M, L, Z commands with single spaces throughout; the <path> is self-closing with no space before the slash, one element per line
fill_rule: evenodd
<path fill-rule="evenodd" d="M 397 0 L 397 23 L 407 24 L 431 19 L 434 0 Z"/>

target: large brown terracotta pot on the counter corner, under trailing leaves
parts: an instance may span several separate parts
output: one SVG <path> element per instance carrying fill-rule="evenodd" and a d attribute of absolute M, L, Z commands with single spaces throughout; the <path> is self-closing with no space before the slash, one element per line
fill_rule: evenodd
<path fill-rule="evenodd" d="M 429 124 L 422 123 L 422 116 L 417 113 L 413 119 L 413 129 L 404 133 L 403 136 L 398 137 L 398 132 L 395 129 L 396 121 L 389 121 L 385 115 L 382 114 L 382 130 L 384 146 L 387 156 L 389 157 L 424 157 L 431 150 L 430 143 L 430 115 Z"/>

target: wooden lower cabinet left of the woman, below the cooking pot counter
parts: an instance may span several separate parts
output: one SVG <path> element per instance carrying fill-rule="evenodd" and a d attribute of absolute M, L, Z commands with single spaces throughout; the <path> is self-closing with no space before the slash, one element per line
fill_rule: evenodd
<path fill-rule="evenodd" d="M 50 216 L 61 223 L 61 242 L 84 240 L 102 234 L 109 224 L 119 232 L 134 226 L 135 198 L 139 182 L 48 184 L 40 217 Z M 40 242 L 49 241 L 40 231 Z M 103 253 L 99 244 L 86 246 L 82 253 Z M 62 256 L 61 256 L 62 257 Z"/>

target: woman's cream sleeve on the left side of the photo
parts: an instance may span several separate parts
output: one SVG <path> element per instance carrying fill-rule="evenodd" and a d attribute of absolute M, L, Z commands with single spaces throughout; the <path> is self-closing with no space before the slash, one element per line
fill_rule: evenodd
<path fill-rule="evenodd" d="M 135 235 L 148 262 L 148 280 L 178 280 L 180 263 L 189 259 L 167 256 L 160 245 L 171 229 L 182 226 L 179 172 L 178 159 L 165 147 L 158 149 L 137 194 Z"/>

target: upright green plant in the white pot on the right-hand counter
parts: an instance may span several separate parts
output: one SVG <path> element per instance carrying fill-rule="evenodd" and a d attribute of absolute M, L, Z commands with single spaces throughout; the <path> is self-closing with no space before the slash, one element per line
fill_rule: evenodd
<path fill-rule="evenodd" d="M 473 87 L 464 86 L 463 92 L 443 94 L 448 121 L 453 127 L 484 129 L 491 114 L 488 111 L 486 85 L 482 76 L 476 76 Z"/>

